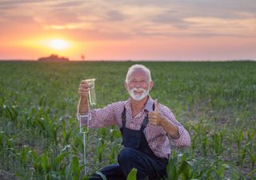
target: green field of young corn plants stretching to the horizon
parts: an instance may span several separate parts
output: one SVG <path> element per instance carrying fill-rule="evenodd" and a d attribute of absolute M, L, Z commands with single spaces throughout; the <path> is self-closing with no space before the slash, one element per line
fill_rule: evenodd
<path fill-rule="evenodd" d="M 173 150 L 168 179 L 256 179 L 256 62 L 141 62 L 150 95 L 169 106 L 192 146 Z M 134 62 L 0 62 L 0 179 L 86 179 L 78 85 L 96 78 L 97 105 L 125 100 Z M 89 130 L 87 173 L 116 162 L 114 126 Z M 167 179 L 167 178 L 166 178 Z"/>

